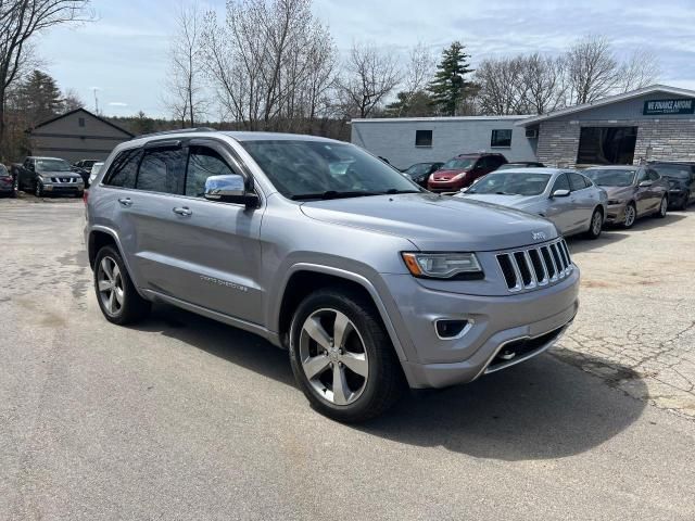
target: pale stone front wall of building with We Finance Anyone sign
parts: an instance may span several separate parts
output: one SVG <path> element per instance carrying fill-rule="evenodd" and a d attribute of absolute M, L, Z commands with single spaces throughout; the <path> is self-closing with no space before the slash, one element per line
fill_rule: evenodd
<path fill-rule="evenodd" d="M 637 127 L 634 163 L 646 157 L 652 147 L 652 160 L 695 161 L 695 119 L 595 119 L 542 122 L 539 130 L 536 154 L 539 161 L 549 166 L 577 162 L 579 134 L 582 126 Z"/>

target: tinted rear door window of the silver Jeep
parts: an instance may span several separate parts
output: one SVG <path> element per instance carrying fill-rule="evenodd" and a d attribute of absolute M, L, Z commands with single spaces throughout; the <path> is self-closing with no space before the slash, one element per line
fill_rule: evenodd
<path fill-rule="evenodd" d="M 148 192 L 182 194 L 185 169 L 184 149 L 146 150 L 136 188 Z"/>

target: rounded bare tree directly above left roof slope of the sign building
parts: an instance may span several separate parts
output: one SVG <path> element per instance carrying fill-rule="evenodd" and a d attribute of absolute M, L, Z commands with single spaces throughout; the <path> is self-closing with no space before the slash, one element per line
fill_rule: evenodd
<path fill-rule="evenodd" d="M 620 66 L 606 37 L 582 38 L 567 51 L 565 60 L 571 103 L 589 103 L 618 87 Z"/>

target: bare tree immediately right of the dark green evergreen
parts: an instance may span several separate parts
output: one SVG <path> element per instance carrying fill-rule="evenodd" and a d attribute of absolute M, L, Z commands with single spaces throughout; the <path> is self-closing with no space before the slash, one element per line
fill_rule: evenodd
<path fill-rule="evenodd" d="M 478 103 L 483 114 L 503 116 L 526 113 L 523 56 L 484 60 L 476 69 Z"/>

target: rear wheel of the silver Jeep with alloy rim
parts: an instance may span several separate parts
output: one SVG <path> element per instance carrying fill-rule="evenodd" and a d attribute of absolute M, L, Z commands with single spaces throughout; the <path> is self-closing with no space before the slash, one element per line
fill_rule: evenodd
<path fill-rule="evenodd" d="M 94 260 L 94 290 L 101 313 L 106 320 L 119 326 L 141 320 L 150 313 L 151 304 L 142 298 L 113 246 L 104 246 Z"/>

